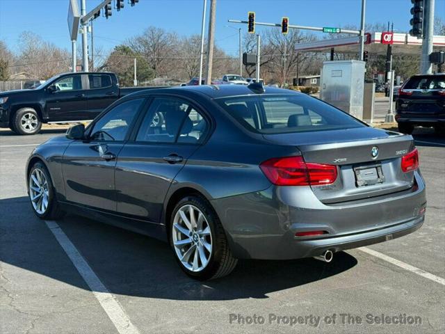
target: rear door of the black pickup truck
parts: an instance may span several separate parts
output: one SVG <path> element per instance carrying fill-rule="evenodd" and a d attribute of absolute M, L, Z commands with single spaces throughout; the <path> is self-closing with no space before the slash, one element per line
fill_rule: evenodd
<path fill-rule="evenodd" d="M 118 99 L 118 83 L 113 83 L 110 74 L 88 74 L 88 90 L 86 90 L 87 114 L 86 120 L 94 119 L 107 106 Z"/>

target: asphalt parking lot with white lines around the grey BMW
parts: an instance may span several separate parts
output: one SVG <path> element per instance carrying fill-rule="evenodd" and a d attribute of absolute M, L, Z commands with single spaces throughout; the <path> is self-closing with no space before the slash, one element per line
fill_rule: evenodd
<path fill-rule="evenodd" d="M 200 283 L 160 241 L 34 216 L 25 161 L 60 134 L 0 131 L 0 333 L 445 333 L 445 136 L 414 132 L 428 197 L 420 230 L 330 264 L 242 261 Z"/>

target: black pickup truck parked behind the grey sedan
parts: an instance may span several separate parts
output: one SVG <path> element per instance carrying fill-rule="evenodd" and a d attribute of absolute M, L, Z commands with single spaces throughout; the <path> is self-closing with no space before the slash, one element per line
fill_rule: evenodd
<path fill-rule="evenodd" d="M 92 120 L 124 95 L 148 87 L 120 88 L 109 72 L 58 74 L 35 89 L 0 93 L 0 127 L 36 134 L 42 123 Z"/>

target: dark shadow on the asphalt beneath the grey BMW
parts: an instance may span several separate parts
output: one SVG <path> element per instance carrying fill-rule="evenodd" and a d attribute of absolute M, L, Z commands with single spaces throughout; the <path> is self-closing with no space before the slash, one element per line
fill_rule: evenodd
<path fill-rule="evenodd" d="M 0 200 L 0 261 L 69 285 L 88 289 L 26 197 Z M 77 250 L 113 294 L 170 300 L 264 299 L 271 292 L 307 285 L 355 267 L 348 253 L 327 264 L 312 258 L 240 260 L 225 278 L 188 278 L 162 241 L 68 215 L 58 221 Z"/>

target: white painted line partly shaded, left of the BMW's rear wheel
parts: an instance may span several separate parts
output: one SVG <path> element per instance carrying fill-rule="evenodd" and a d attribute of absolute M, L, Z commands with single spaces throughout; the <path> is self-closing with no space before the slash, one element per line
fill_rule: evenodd
<path fill-rule="evenodd" d="M 94 271 L 88 265 L 76 246 L 68 239 L 67 234 L 63 232 L 58 223 L 55 221 L 45 221 L 49 230 L 54 234 L 56 240 L 62 246 L 65 253 L 70 257 L 70 260 L 81 274 L 92 293 L 99 301 L 106 315 L 113 322 L 115 328 L 120 334 L 140 334 L 138 328 L 134 326 L 125 311 L 122 309 L 118 301 L 114 298 L 105 285 L 99 280 Z"/>

